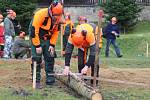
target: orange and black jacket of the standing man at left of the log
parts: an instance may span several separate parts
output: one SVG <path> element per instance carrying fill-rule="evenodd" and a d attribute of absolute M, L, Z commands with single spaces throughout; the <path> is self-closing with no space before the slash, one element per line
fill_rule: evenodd
<path fill-rule="evenodd" d="M 40 29 L 45 30 L 51 35 L 50 44 L 55 45 L 58 38 L 58 25 L 54 29 L 51 29 L 52 20 L 48 14 L 48 8 L 37 11 L 33 18 L 32 26 L 35 28 L 34 37 L 32 37 L 32 43 L 36 47 L 40 46 Z"/>

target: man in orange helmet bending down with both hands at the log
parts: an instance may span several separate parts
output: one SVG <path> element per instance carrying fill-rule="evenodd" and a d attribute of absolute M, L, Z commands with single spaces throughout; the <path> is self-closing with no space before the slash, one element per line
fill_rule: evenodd
<path fill-rule="evenodd" d="M 93 33 L 93 27 L 87 23 L 78 25 L 76 29 L 72 30 L 72 34 L 69 36 L 68 44 L 65 54 L 65 68 L 64 74 L 69 74 L 70 59 L 73 48 L 78 48 L 78 71 L 82 74 L 87 74 L 89 67 L 92 69 L 91 75 L 94 75 L 94 62 L 96 53 L 95 36 Z M 90 49 L 88 60 L 87 50 Z M 97 72 L 98 76 L 98 72 Z"/>

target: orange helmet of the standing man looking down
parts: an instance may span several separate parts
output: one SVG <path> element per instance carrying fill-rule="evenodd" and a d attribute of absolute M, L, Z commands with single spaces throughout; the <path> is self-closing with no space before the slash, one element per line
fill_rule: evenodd
<path fill-rule="evenodd" d="M 61 3 L 56 2 L 56 3 L 52 3 L 52 15 L 61 15 L 63 14 L 63 6 L 61 5 Z"/>

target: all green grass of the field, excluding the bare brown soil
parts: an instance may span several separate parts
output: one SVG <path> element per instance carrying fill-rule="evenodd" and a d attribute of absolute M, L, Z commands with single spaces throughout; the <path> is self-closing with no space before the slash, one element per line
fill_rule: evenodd
<path fill-rule="evenodd" d="M 146 57 L 146 44 L 150 44 L 150 21 L 139 22 L 135 29 L 128 34 L 122 34 L 117 39 L 117 43 L 121 48 L 123 58 L 117 58 L 113 47 L 110 50 L 110 57 L 105 58 L 105 39 L 103 39 L 103 48 L 101 52 L 101 63 L 107 68 L 150 68 L 150 58 Z M 60 36 L 56 49 L 60 50 Z M 150 48 L 149 48 L 150 50 Z M 59 51 L 60 55 L 60 51 Z M 57 58 L 62 61 L 64 58 Z M 77 70 L 77 61 L 72 59 L 71 70 Z M 27 62 L 26 62 L 27 64 Z M 28 63 L 29 64 L 29 63 Z M 0 69 L 15 70 L 17 66 L 21 66 L 23 70 L 29 69 L 27 65 L 21 62 L 7 62 L 3 60 L 0 63 Z M 100 66 L 103 67 L 103 66 Z M 11 73 L 13 74 L 13 73 Z M 1 81 L 1 78 L 0 78 Z M 1 82 L 0 82 L 1 83 Z M 125 86 L 114 87 L 103 84 L 101 92 L 104 100 L 150 100 L 150 90 L 141 88 L 126 88 Z M 23 90 L 22 92 L 20 92 Z M 12 87 L 0 87 L 0 100 L 86 100 L 85 98 L 75 95 L 72 90 L 61 86 L 53 86 L 42 90 L 32 90 L 31 86 L 24 89 Z"/>

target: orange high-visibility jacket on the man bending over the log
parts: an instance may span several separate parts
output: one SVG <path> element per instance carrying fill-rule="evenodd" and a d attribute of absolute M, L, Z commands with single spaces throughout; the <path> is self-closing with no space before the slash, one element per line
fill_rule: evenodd
<path fill-rule="evenodd" d="M 82 30 L 87 31 L 86 37 L 85 37 L 85 39 L 82 43 L 82 47 L 87 48 L 87 47 L 90 47 L 91 45 L 94 45 L 95 44 L 95 36 L 94 36 L 94 33 L 93 33 L 93 27 L 90 24 L 87 24 L 87 23 L 78 25 L 76 27 L 77 32 L 81 32 Z M 69 36 L 68 42 L 71 43 L 71 44 L 74 44 L 74 43 L 72 43 L 73 41 L 72 41 L 71 35 Z"/>

